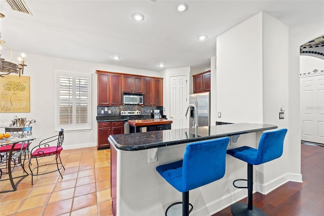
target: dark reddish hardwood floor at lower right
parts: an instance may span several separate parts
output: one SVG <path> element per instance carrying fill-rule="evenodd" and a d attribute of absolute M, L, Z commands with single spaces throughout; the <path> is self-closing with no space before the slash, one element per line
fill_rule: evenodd
<path fill-rule="evenodd" d="M 288 182 L 267 195 L 254 193 L 253 204 L 269 216 L 324 215 L 324 147 L 301 144 L 301 173 L 303 183 Z M 213 216 L 221 215 L 231 215 L 230 206 Z"/>

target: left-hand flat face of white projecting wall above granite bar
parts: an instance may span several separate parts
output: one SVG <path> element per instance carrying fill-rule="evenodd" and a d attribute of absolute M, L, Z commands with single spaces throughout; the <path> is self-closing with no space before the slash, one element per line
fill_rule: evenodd
<path fill-rule="evenodd" d="M 217 37 L 220 122 L 262 123 L 262 14 Z"/>

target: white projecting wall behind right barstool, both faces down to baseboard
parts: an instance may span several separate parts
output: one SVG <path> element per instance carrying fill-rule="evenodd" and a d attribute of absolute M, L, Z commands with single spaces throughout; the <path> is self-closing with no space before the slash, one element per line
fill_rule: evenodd
<path fill-rule="evenodd" d="M 258 173 L 268 171 L 256 179 L 260 193 L 266 194 L 287 181 L 302 181 L 299 46 L 320 35 L 323 26 L 322 23 L 307 24 L 309 32 L 317 28 L 317 33 L 310 34 L 305 32 L 305 26 L 289 28 L 262 12 L 217 38 L 217 112 L 222 112 L 222 118 L 217 121 L 288 128 L 284 154 L 255 168 Z M 234 40 L 237 35 L 240 40 Z M 284 104 L 285 119 L 279 120 L 280 107 Z"/>

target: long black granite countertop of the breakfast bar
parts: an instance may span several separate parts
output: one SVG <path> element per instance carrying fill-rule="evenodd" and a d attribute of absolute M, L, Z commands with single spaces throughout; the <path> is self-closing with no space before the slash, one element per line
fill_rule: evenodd
<path fill-rule="evenodd" d="M 197 136 L 195 135 L 195 128 L 183 128 L 143 133 L 115 134 L 110 135 L 108 140 L 116 149 L 137 151 L 276 128 L 278 127 L 268 124 L 239 123 L 198 127 Z"/>

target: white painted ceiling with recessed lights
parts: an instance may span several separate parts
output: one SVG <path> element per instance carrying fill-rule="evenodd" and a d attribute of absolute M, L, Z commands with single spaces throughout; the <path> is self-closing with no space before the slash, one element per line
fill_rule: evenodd
<path fill-rule="evenodd" d="M 182 2 L 189 5 L 186 12 L 176 10 Z M 13 11 L 0 0 L 0 13 L 6 16 L 0 18 L 1 40 L 13 51 L 153 71 L 164 69 L 159 63 L 165 68 L 209 68 L 217 35 L 261 11 L 289 26 L 324 20 L 324 1 L 310 0 L 25 3 L 32 15 Z M 142 13 L 144 21 L 132 20 L 135 12 Z M 199 34 L 209 38 L 198 41 Z M 114 55 L 120 59 L 113 60 Z"/>

